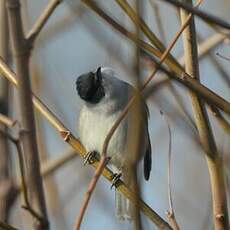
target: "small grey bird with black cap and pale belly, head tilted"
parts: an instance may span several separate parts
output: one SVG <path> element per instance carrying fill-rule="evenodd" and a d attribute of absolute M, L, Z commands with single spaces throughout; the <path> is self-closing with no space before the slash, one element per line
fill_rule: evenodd
<path fill-rule="evenodd" d="M 77 78 L 76 89 L 83 100 L 79 117 L 79 138 L 88 153 L 102 152 L 104 140 L 115 123 L 135 89 L 116 77 L 116 73 L 108 67 L 99 67 L 95 72 L 82 74 Z M 111 157 L 109 166 L 115 175 L 121 174 L 128 187 L 132 186 L 131 169 L 144 156 L 144 177 L 149 179 L 151 171 L 151 144 L 148 133 L 148 108 L 144 100 L 140 100 L 140 115 L 133 107 L 126 118 L 116 129 L 107 149 Z M 133 137 L 132 127 L 139 121 L 139 146 L 133 150 L 138 141 Z M 135 142 L 135 143 L 134 143 Z M 131 148 L 130 148 L 131 146 Z M 130 151 L 132 149 L 132 151 Z M 136 153 L 135 153 L 136 152 Z M 135 173 L 133 174 L 136 178 Z M 116 215 L 120 220 L 132 219 L 133 206 L 122 194 L 116 191 Z"/>

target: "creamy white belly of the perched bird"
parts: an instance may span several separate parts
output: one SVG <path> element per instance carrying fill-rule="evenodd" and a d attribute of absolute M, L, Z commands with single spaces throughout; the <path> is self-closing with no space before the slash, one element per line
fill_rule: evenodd
<path fill-rule="evenodd" d="M 88 152 L 97 151 L 102 153 L 105 138 L 118 116 L 119 113 L 111 116 L 84 113 L 81 116 L 79 124 L 80 140 Z M 122 166 L 125 154 L 126 122 L 124 120 L 118 126 L 107 148 L 107 156 L 111 157 L 110 163 L 118 168 Z"/>

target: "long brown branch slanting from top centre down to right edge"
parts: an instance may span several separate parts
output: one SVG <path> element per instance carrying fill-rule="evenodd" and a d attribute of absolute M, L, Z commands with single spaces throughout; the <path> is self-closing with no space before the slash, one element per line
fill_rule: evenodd
<path fill-rule="evenodd" d="M 148 43 L 145 43 L 144 41 L 137 39 L 135 35 L 128 30 L 126 30 L 124 27 L 122 27 L 120 24 L 118 24 L 115 20 L 113 20 L 110 16 L 108 16 L 103 10 L 101 10 L 97 4 L 95 4 L 91 0 L 82 0 L 83 3 L 85 3 L 88 7 L 90 7 L 95 13 L 97 13 L 100 17 L 102 17 L 106 22 L 108 22 L 113 28 L 118 30 L 120 33 L 125 35 L 127 38 L 129 38 L 133 42 L 138 42 L 138 45 L 148 51 L 149 53 L 157 56 L 158 58 L 161 57 L 162 53 L 152 46 L 150 46 Z M 181 84 L 183 84 L 185 87 L 193 90 L 196 94 L 201 96 L 205 101 L 208 103 L 217 106 L 218 108 L 221 108 L 226 113 L 230 114 L 230 104 L 225 99 L 221 98 L 202 84 L 198 83 L 196 80 L 194 80 L 191 76 L 189 76 L 187 73 L 184 72 L 184 69 L 177 63 L 173 62 L 170 59 L 166 59 L 165 63 L 172 69 L 173 72 L 176 74 L 169 74 L 169 76 Z"/>

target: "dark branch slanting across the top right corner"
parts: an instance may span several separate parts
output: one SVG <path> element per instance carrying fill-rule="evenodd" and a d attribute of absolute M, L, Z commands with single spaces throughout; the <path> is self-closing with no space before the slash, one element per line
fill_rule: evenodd
<path fill-rule="evenodd" d="M 177 0 L 163 0 L 163 1 L 165 1 L 171 5 L 181 7 L 182 9 L 188 11 L 189 13 L 192 13 L 193 15 L 200 17 L 201 19 L 203 19 L 206 22 L 209 22 L 211 24 L 216 24 L 218 26 L 221 26 L 225 29 L 230 30 L 230 24 L 228 22 L 222 20 L 219 17 L 208 14 L 208 13 L 204 12 L 203 10 L 194 9 L 191 4 L 179 2 Z"/>

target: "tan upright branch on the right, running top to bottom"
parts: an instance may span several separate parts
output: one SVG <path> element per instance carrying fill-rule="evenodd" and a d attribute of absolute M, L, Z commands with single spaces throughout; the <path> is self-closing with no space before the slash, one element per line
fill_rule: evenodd
<path fill-rule="evenodd" d="M 192 4 L 191 0 L 184 0 L 184 2 Z M 182 23 L 187 18 L 187 15 L 188 13 L 181 9 Z M 199 81 L 197 43 L 195 36 L 195 24 L 194 19 L 192 19 L 189 27 L 183 33 L 185 68 L 188 74 Z M 228 211 L 222 160 L 217 152 L 216 143 L 203 101 L 191 91 L 189 91 L 189 95 L 210 175 L 215 229 L 228 229 Z"/>

